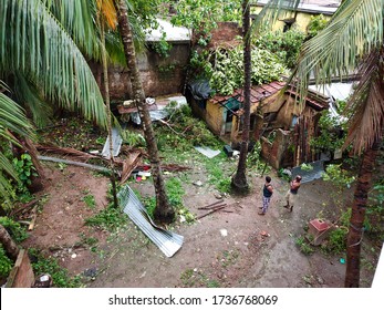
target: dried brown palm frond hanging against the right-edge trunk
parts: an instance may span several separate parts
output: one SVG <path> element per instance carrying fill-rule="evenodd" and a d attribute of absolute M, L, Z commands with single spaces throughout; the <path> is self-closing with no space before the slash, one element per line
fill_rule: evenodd
<path fill-rule="evenodd" d="M 346 106 L 352 112 L 344 147 L 353 143 L 355 154 L 370 148 L 383 134 L 384 126 L 384 54 L 373 51 L 362 63 L 362 76 Z"/>

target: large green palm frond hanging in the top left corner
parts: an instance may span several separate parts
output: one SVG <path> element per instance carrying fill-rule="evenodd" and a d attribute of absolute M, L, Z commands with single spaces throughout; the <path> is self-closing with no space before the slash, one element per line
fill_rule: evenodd
<path fill-rule="evenodd" d="M 91 69 L 42 1 L 1 0 L 0 17 L 0 73 L 29 76 L 51 102 L 79 110 L 106 127 L 103 97 Z"/>

